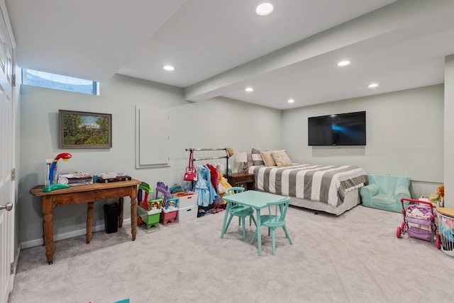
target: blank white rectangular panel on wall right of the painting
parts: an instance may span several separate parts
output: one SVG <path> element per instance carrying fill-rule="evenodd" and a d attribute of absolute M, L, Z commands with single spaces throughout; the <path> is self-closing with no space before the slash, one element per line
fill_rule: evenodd
<path fill-rule="evenodd" d="M 167 111 L 135 107 L 135 168 L 169 166 Z"/>

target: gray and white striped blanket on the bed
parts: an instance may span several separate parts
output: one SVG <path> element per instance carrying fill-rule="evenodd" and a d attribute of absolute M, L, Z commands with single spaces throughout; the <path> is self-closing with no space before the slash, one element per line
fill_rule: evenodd
<path fill-rule="evenodd" d="M 343 203 L 345 192 L 367 182 L 367 172 L 353 165 L 251 166 L 248 172 L 254 174 L 257 190 L 311 199 L 334 207 Z"/>

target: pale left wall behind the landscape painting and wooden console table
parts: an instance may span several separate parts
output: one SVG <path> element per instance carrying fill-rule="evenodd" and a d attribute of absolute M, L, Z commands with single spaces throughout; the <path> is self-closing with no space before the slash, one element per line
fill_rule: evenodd
<path fill-rule="evenodd" d="M 135 169 L 135 106 L 170 112 L 170 167 Z M 60 150 L 58 109 L 112 114 L 113 147 Z M 182 89 L 121 75 L 101 83 L 100 96 L 22 85 L 20 241 L 23 248 L 42 243 L 40 199 L 32 197 L 29 190 L 43 184 L 45 160 L 58 153 L 72 153 L 68 162 L 58 163 L 60 172 L 126 172 L 150 184 L 161 181 L 172 185 L 183 182 L 189 156 L 186 148 L 231 147 L 235 152 L 250 150 L 251 145 L 282 148 L 280 134 L 279 110 L 221 98 L 191 103 L 183 100 Z M 153 133 L 149 138 L 153 141 Z M 155 142 L 155 148 L 160 148 L 160 142 Z M 229 162 L 233 162 L 233 158 Z M 125 199 L 125 219 L 131 217 L 129 202 Z M 102 204 L 95 203 L 97 230 L 104 229 Z M 85 233 L 86 207 L 79 204 L 54 209 L 55 239 Z"/>

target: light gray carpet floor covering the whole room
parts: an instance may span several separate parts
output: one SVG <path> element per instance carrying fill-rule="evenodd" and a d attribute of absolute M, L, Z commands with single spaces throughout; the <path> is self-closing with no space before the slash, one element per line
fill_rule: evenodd
<path fill-rule="evenodd" d="M 289 208 L 276 255 L 262 228 L 262 256 L 238 220 L 220 238 L 224 213 L 160 225 L 129 225 L 21 251 L 9 303 L 453 302 L 454 258 L 435 243 L 396 237 L 402 214 L 362 205 L 341 216 Z M 248 226 L 247 239 L 253 235 Z"/>

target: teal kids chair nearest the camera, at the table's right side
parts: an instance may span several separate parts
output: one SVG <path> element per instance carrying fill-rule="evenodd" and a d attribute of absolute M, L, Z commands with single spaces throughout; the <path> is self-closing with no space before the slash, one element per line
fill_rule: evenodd
<path fill-rule="evenodd" d="M 266 226 L 268 228 L 268 236 L 272 239 L 272 255 L 276 254 L 276 228 L 282 227 L 284 229 L 285 238 L 289 239 L 291 245 L 293 245 L 292 239 L 289 236 L 289 231 L 287 231 L 287 225 L 285 223 L 285 216 L 287 215 L 287 209 L 289 208 L 290 198 L 283 199 L 279 202 L 273 202 L 268 204 L 268 214 L 260 215 L 260 226 Z M 260 228 L 258 226 L 258 228 Z M 254 243 L 255 238 L 257 238 L 257 231 L 253 235 L 253 239 L 250 241 L 250 244 Z"/>

